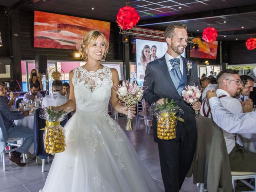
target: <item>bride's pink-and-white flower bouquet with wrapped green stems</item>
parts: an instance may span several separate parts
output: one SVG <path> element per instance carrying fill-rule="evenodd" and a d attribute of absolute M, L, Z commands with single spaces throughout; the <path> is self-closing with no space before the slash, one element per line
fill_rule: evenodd
<path fill-rule="evenodd" d="M 143 90 L 137 85 L 136 81 L 129 82 L 123 81 L 122 85 L 118 86 L 116 91 L 118 99 L 125 102 L 127 107 L 134 106 L 138 101 L 142 99 Z M 128 121 L 126 124 L 126 130 L 132 130 L 132 113 L 128 112 Z"/>

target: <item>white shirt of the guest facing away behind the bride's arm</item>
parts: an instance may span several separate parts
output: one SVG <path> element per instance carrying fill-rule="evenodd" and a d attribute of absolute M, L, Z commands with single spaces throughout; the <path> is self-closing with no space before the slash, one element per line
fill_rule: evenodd
<path fill-rule="evenodd" d="M 50 95 L 47 95 L 43 98 L 42 107 L 46 108 L 48 106 L 57 107 L 59 105 L 65 104 L 68 101 L 66 96 L 62 96 L 58 92 L 53 92 Z"/>

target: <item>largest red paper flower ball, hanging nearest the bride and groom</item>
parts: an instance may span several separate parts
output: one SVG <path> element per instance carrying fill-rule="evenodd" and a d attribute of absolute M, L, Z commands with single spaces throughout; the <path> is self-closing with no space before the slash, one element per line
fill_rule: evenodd
<path fill-rule="evenodd" d="M 138 12 L 135 10 L 135 8 L 130 6 L 120 8 L 116 18 L 116 22 L 122 30 L 132 29 L 132 27 L 136 26 L 140 20 Z"/>

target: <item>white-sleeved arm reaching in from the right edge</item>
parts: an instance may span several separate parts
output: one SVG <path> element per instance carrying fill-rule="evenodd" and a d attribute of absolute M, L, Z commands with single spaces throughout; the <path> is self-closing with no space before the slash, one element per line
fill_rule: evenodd
<path fill-rule="evenodd" d="M 209 100 L 214 122 L 226 132 L 230 133 L 256 133 L 256 111 L 233 114 L 220 102 L 217 97 Z"/>

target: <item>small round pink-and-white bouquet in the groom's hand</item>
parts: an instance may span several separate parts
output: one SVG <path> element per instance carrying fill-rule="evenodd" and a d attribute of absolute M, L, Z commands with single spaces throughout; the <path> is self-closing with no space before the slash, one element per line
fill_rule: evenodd
<path fill-rule="evenodd" d="M 202 90 L 198 89 L 198 86 L 196 86 L 195 84 L 193 86 L 185 86 L 184 90 L 182 91 L 183 100 L 190 105 L 198 102 L 201 94 Z M 198 114 L 198 111 L 196 111 L 196 114 Z"/>

